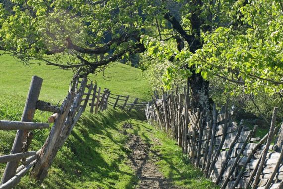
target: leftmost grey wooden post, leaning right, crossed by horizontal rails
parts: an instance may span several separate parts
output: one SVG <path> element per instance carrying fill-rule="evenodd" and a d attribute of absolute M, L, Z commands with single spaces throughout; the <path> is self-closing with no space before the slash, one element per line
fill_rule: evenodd
<path fill-rule="evenodd" d="M 43 79 L 40 77 L 37 76 L 32 77 L 21 121 L 24 122 L 32 121 L 36 110 L 36 102 L 38 101 L 42 81 Z M 23 142 L 25 142 L 28 132 L 29 132 L 28 130 L 17 131 L 16 138 L 14 140 L 14 144 L 11 150 L 11 154 L 19 153 L 22 151 Z M 1 184 L 7 182 L 9 179 L 15 176 L 18 164 L 19 164 L 19 160 L 15 160 L 7 163 Z"/>

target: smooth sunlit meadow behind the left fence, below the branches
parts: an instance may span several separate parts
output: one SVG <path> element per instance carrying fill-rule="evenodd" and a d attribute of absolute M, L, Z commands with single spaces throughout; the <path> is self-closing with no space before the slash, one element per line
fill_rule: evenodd
<path fill-rule="evenodd" d="M 44 63 L 24 66 L 13 57 L 3 55 L 0 56 L 1 96 L 13 94 L 26 97 L 33 75 L 43 78 L 40 99 L 57 103 L 66 97 L 73 73 Z M 140 101 L 146 101 L 150 94 L 141 71 L 125 64 L 111 64 L 104 74 L 100 72 L 97 75 L 90 75 L 89 80 L 96 82 L 102 89 L 110 89 L 114 94 L 130 95 L 130 102 L 136 97 Z"/>

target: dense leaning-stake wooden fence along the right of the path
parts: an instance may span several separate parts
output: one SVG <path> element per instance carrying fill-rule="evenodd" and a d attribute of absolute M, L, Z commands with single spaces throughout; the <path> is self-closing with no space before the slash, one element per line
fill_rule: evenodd
<path fill-rule="evenodd" d="M 253 130 L 234 121 L 235 111 L 222 107 L 191 112 L 189 96 L 163 95 L 152 98 L 145 114 L 149 124 L 172 135 L 192 164 L 221 189 L 283 189 L 283 123 L 278 134 L 274 108 L 270 131 L 262 139 Z"/>

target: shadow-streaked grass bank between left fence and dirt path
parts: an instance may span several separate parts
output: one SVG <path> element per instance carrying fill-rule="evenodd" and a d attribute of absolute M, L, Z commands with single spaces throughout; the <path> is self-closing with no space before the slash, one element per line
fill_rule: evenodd
<path fill-rule="evenodd" d="M 125 147 L 128 137 L 121 133 L 127 119 L 129 115 L 123 111 L 108 110 L 96 115 L 86 112 L 56 156 L 53 167 L 60 172 L 52 174 L 59 174 L 63 181 L 55 181 L 56 186 L 117 188 L 116 183 L 124 178 L 123 186 L 133 188 L 137 178 L 124 163 L 130 151 Z M 53 188 L 50 179 L 45 185 Z M 68 186 L 68 182 L 77 185 Z"/>

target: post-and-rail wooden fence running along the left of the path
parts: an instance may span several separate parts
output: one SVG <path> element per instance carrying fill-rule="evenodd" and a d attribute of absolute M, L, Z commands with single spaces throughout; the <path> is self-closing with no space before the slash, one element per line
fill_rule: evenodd
<path fill-rule="evenodd" d="M 93 83 L 87 85 L 87 78 L 80 81 L 77 77 L 73 78 L 68 95 L 58 107 L 38 100 L 42 82 L 43 79 L 33 76 L 21 121 L 0 121 L 1 130 L 17 130 L 11 153 L 0 156 L 0 163 L 7 162 L 0 189 L 13 188 L 31 168 L 33 168 L 31 177 L 41 183 L 58 150 L 71 134 L 88 104 L 91 113 L 107 109 L 108 104 L 112 106 L 110 98 L 115 100 L 114 108 L 120 107 L 131 111 L 133 108 L 144 107 L 143 103 L 137 103 L 138 98 L 133 103 L 127 104 L 129 96 L 114 95 L 108 89 L 101 91 L 101 88 Z M 87 93 L 85 93 L 86 88 L 88 88 Z M 124 101 L 123 105 L 119 104 L 119 101 Z M 32 122 L 37 109 L 53 113 L 48 118 L 48 123 Z M 33 138 L 32 130 L 49 128 L 50 123 L 53 125 L 41 149 L 28 151 Z"/>

